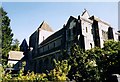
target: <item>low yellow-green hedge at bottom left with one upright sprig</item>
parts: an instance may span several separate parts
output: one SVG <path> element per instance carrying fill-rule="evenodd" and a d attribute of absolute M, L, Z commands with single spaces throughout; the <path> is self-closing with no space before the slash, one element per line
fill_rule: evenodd
<path fill-rule="evenodd" d="M 16 82 L 19 82 L 20 80 L 21 81 L 47 81 L 48 79 L 46 78 L 46 74 L 42 73 L 42 74 L 35 74 L 34 72 L 29 72 L 24 75 L 24 66 L 25 66 L 25 62 L 22 63 L 22 68 L 20 69 L 19 73 L 14 75 L 14 74 L 11 74 L 11 71 L 6 73 L 6 74 L 3 74 L 2 75 L 2 81 L 4 82 L 7 82 L 7 81 L 11 81 L 12 80 L 15 80 Z"/>

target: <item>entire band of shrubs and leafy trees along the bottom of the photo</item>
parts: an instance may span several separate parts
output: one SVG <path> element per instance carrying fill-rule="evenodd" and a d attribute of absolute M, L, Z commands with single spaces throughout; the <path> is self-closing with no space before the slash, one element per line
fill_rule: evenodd
<path fill-rule="evenodd" d="M 104 47 L 82 50 L 78 45 L 71 48 L 68 60 L 55 61 L 55 68 L 48 74 L 28 72 L 24 75 L 24 66 L 19 74 L 3 74 L 3 80 L 31 80 L 31 81 L 69 81 L 104 82 L 112 74 L 120 74 L 120 42 L 106 41 Z"/>

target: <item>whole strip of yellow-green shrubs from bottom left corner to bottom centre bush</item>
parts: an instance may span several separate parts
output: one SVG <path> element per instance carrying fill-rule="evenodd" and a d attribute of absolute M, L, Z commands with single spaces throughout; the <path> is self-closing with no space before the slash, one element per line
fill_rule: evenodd
<path fill-rule="evenodd" d="M 11 72 L 3 74 L 2 75 L 2 80 L 3 81 L 10 81 L 12 80 L 16 80 L 17 82 L 19 80 L 30 80 L 30 81 L 65 81 L 68 80 L 67 78 L 67 74 L 68 71 L 70 70 L 70 66 L 68 65 L 68 61 L 67 60 L 63 60 L 63 61 L 58 61 L 56 62 L 56 67 L 50 71 L 50 73 L 45 74 L 38 74 L 38 73 L 34 73 L 34 72 L 29 72 L 24 75 L 24 66 L 25 66 L 25 62 L 22 63 L 22 68 L 19 71 L 19 73 L 17 75 L 11 74 Z"/>

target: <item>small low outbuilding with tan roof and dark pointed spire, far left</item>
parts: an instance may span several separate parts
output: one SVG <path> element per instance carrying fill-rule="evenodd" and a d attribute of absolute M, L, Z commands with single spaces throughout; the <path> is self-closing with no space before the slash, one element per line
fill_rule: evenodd
<path fill-rule="evenodd" d="M 22 68 L 22 62 L 27 61 L 28 45 L 24 39 L 20 45 L 20 51 L 10 51 L 8 54 L 8 68 L 6 72 L 12 70 L 12 73 L 17 73 Z"/>

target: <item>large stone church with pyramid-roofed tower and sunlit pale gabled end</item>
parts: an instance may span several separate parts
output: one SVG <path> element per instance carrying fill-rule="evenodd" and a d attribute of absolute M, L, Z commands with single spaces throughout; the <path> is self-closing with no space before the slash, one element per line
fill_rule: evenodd
<path fill-rule="evenodd" d="M 78 18 L 70 16 L 67 24 L 57 32 L 53 32 L 43 21 L 29 38 L 26 70 L 46 72 L 53 69 L 53 59 L 61 60 L 70 54 L 74 43 L 84 50 L 95 46 L 102 48 L 108 39 L 118 41 L 118 35 L 120 34 L 110 24 L 96 16 L 90 16 L 87 10 Z"/>

